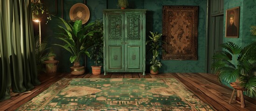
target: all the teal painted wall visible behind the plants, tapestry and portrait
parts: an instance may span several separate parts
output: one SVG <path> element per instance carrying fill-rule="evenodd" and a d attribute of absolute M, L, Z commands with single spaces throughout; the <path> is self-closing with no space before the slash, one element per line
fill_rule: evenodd
<path fill-rule="evenodd" d="M 52 2 L 53 0 L 44 0 L 44 2 Z M 57 0 L 57 15 L 61 17 L 61 0 Z M 63 0 L 63 15 L 64 19 L 69 19 L 69 9 L 76 3 L 83 3 L 84 0 Z M 102 10 L 105 8 L 118 8 L 117 0 L 85 0 L 86 5 L 90 9 L 89 22 L 93 22 L 96 19 L 103 18 Z M 199 6 L 199 24 L 198 24 L 198 60 L 197 61 L 178 61 L 178 60 L 162 60 L 163 67 L 160 72 L 205 72 L 205 59 L 206 59 L 206 16 L 207 16 L 207 0 L 129 0 L 128 8 L 145 8 L 147 11 L 146 18 L 146 32 L 149 35 L 149 31 L 162 32 L 162 6 Z M 52 5 L 52 4 L 48 4 Z M 256 25 L 255 0 L 224 0 L 224 10 L 229 8 L 240 6 L 240 32 L 239 38 L 225 38 L 223 42 L 232 41 L 238 45 L 245 46 L 252 38 L 250 37 L 250 26 Z M 51 11 L 54 11 L 51 6 Z M 224 11 L 224 18 L 226 18 L 226 12 Z M 224 24 L 226 20 L 224 19 Z M 55 39 L 54 32 L 56 31 L 55 20 L 49 21 L 47 25 L 42 22 L 42 37 L 49 37 L 49 43 L 58 43 Z M 224 25 L 225 29 L 225 25 Z M 225 33 L 225 30 L 223 31 Z M 55 47 L 56 59 L 60 61 L 58 71 L 69 72 L 69 67 L 72 64 L 69 62 L 69 53 L 63 51 L 59 47 Z M 150 56 L 146 58 L 146 70 L 148 72 Z M 81 60 L 83 65 L 83 59 Z M 88 71 L 90 72 L 90 66 L 93 63 L 87 58 Z"/>

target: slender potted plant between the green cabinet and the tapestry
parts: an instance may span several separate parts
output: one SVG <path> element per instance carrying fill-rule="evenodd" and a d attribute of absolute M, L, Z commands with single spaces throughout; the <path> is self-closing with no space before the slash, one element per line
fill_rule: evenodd
<path fill-rule="evenodd" d="M 161 68 L 162 64 L 159 61 L 159 51 L 162 50 L 162 52 L 165 52 L 164 49 L 162 49 L 161 43 L 166 43 L 164 41 L 161 41 L 160 38 L 162 36 L 161 33 L 158 32 L 151 32 L 151 36 L 148 36 L 150 40 L 146 41 L 146 45 L 148 43 L 150 46 L 149 51 L 152 51 L 152 59 L 150 60 L 150 73 L 151 74 L 158 74 L 159 73 L 159 68 Z"/>

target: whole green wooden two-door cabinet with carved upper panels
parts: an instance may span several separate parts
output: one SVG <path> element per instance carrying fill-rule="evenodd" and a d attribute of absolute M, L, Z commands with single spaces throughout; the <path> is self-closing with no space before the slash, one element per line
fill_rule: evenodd
<path fill-rule="evenodd" d="M 104 75 L 141 72 L 145 75 L 146 9 L 104 9 Z"/>

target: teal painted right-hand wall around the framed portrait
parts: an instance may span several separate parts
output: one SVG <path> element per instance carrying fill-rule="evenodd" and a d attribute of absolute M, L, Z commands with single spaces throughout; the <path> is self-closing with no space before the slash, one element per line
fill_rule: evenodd
<path fill-rule="evenodd" d="M 256 40 L 255 37 L 251 37 L 250 26 L 256 25 L 256 1 L 255 0 L 224 0 L 224 18 L 226 18 L 226 10 L 240 6 L 240 24 L 239 24 L 239 38 L 225 38 L 223 37 L 223 43 L 233 42 L 239 46 L 246 46 L 252 41 Z M 224 19 L 224 24 L 226 19 Z M 225 29 L 226 26 L 224 25 Z M 225 33 L 225 30 L 223 31 Z M 229 83 L 223 83 L 229 87 Z"/>

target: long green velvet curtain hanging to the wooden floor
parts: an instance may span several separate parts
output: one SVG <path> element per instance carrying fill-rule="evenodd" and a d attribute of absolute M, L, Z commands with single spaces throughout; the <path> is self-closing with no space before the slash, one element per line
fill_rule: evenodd
<path fill-rule="evenodd" d="M 39 85 L 30 0 L 0 0 L 0 101 Z"/>

